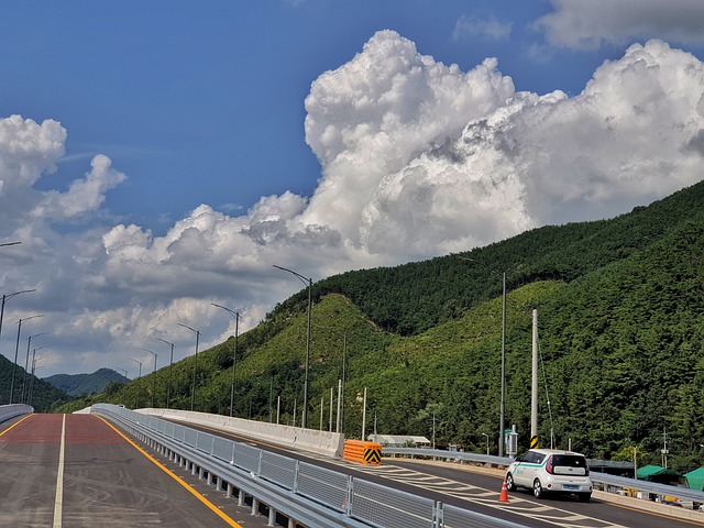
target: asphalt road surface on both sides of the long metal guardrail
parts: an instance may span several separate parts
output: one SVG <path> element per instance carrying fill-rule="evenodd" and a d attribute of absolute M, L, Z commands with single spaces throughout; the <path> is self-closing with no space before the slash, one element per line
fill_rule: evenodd
<path fill-rule="evenodd" d="M 501 477 L 458 464 L 384 459 L 381 466 L 361 466 L 252 439 L 235 440 L 522 526 L 704 527 L 704 514 L 701 522 L 682 520 L 597 497 L 582 504 L 569 498 L 536 501 L 529 493 L 514 492 L 509 503 L 499 503 Z M 31 415 L 0 425 L 0 527 L 267 526 L 265 512 L 252 515 L 250 505 L 238 505 L 224 491 L 92 415 Z"/>

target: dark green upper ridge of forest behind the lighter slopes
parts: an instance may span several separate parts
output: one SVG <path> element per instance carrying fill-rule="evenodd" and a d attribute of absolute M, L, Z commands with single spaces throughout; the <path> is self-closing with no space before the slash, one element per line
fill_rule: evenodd
<path fill-rule="evenodd" d="M 612 220 L 548 226 L 461 254 L 475 262 L 450 255 L 349 272 L 318 282 L 314 293 L 341 293 L 380 327 L 411 336 L 501 295 L 495 272 L 506 272 L 509 289 L 539 279 L 573 280 L 635 254 L 703 211 L 700 183 Z M 305 302 L 306 295 L 300 292 L 280 308 Z"/>

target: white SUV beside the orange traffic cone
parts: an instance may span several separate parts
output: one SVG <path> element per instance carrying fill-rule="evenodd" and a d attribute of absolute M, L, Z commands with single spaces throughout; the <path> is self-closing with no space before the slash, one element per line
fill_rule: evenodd
<path fill-rule="evenodd" d="M 592 480 L 586 458 L 571 451 L 531 449 L 506 471 L 506 488 L 532 490 L 536 498 L 546 493 L 573 493 L 586 503 L 592 498 Z"/>

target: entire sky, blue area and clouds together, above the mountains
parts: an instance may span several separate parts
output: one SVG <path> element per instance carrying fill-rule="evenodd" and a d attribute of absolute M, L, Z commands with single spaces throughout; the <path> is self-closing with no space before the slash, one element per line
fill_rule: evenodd
<path fill-rule="evenodd" d="M 134 370 L 301 284 L 701 179 L 700 0 L 0 4 L 0 353 Z M 26 331 L 26 333 L 24 333 Z M 38 343 L 37 343 L 38 344 Z M 51 352 L 51 353 L 50 353 Z M 165 356 L 165 355 L 164 355 Z M 164 356 L 161 356 L 162 359 Z M 162 362 L 160 359 L 160 362 Z"/>

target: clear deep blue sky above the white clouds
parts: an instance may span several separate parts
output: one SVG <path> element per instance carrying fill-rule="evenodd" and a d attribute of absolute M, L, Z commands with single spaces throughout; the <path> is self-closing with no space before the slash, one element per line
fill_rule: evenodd
<path fill-rule="evenodd" d="M 0 114 L 68 131 L 66 160 L 38 188 L 67 186 L 105 154 L 128 175 L 107 209 L 163 232 L 201 202 L 234 212 L 286 189 L 312 194 L 320 164 L 304 99 L 378 30 L 463 70 L 495 56 L 519 90 L 581 91 L 609 51 L 531 56 L 541 42 L 531 24 L 548 11 L 521 1 L 4 2 Z M 454 35 L 463 16 L 510 25 L 510 36 Z"/>

